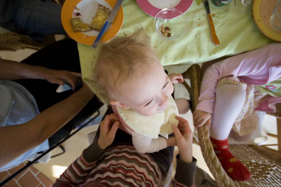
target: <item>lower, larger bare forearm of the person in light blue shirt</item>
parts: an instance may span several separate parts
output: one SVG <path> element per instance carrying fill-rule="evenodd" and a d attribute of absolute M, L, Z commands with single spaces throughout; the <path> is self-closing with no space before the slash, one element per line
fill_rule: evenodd
<path fill-rule="evenodd" d="M 0 73 L 1 74 L 1 73 Z M 92 98 L 87 86 L 44 110 L 29 122 L 0 128 L 0 167 L 40 145 L 69 122 Z"/>

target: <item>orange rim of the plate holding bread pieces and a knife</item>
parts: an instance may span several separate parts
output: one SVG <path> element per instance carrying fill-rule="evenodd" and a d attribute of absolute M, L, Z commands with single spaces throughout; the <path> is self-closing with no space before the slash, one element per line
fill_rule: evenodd
<path fill-rule="evenodd" d="M 73 32 L 72 26 L 70 23 L 71 18 L 73 17 L 74 13 L 74 7 L 83 0 L 67 0 L 63 4 L 62 7 L 62 26 L 64 30 L 67 32 L 67 34 L 75 41 L 85 44 L 85 45 L 92 45 L 93 42 L 96 39 L 96 36 L 88 36 L 85 35 L 83 32 L 76 31 Z M 104 0 L 106 1 L 111 8 L 114 7 L 117 0 Z M 76 10 L 77 11 L 77 10 Z M 77 11 L 79 12 L 79 11 Z M 83 16 L 83 15 L 82 15 Z M 123 8 L 120 7 L 112 25 L 111 28 L 104 33 L 104 35 L 101 38 L 101 42 L 109 41 L 113 36 L 115 36 L 121 29 L 123 24 L 124 14 L 123 14 Z"/>

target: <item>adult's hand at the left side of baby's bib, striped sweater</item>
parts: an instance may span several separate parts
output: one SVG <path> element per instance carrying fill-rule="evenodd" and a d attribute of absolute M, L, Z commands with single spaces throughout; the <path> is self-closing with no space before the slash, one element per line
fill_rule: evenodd
<path fill-rule="evenodd" d="M 100 136 L 97 140 L 97 144 L 101 149 L 105 149 L 110 146 L 115 138 L 116 131 L 119 127 L 119 119 L 113 113 L 106 115 L 103 121 L 100 123 Z"/>

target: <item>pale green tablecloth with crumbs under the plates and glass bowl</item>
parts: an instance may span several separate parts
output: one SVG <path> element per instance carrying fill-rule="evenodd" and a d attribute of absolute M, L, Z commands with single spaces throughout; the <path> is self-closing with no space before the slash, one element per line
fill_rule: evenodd
<path fill-rule="evenodd" d="M 163 65 L 195 64 L 206 62 L 225 55 L 235 55 L 244 51 L 260 48 L 271 43 L 268 37 L 259 31 L 252 17 L 252 12 L 240 12 L 235 8 L 234 0 L 224 7 L 215 7 L 210 1 L 210 11 L 217 36 L 218 47 L 211 41 L 210 28 L 203 3 L 197 5 L 195 0 L 185 13 L 188 18 L 188 31 L 179 41 L 164 41 L 154 31 L 153 17 L 148 16 L 135 0 L 124 0 L 124 23 L 122 31 L 131 31 L 141 24 L 151 38 Z M 93 56 L 96 49 L 78 43 L 83 79 L 91 79 Z M 95 90 L 94 88 L 91 88 Z"/>

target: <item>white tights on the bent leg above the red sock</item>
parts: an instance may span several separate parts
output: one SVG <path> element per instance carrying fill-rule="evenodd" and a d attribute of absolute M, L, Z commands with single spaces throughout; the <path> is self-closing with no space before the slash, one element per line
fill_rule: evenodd
<path fill-rule="evenodd" d="M 246 99 L 246 91 L 236 84 L 223 84 L 216 89 L 216 101 L 210 135 L 225 140 Z"/>

